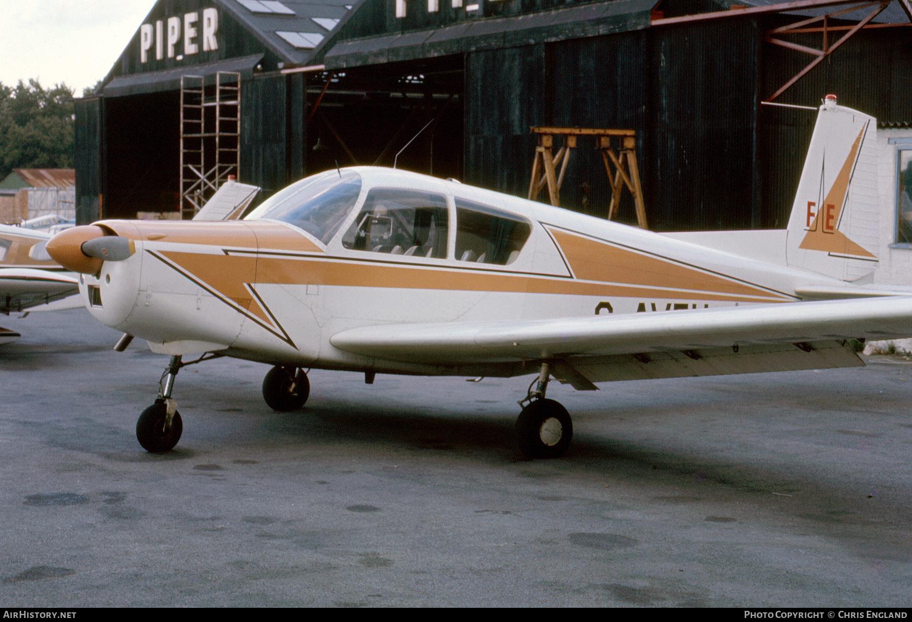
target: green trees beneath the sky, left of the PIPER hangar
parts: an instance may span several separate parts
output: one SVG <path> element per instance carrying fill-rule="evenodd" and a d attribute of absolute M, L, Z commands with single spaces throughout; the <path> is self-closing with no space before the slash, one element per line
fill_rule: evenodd
<path fill-rule="evenodd" d="M 0 179 L 13 169 L 70 169 L 74 162 L 73 90 L 0 82 Z"/>

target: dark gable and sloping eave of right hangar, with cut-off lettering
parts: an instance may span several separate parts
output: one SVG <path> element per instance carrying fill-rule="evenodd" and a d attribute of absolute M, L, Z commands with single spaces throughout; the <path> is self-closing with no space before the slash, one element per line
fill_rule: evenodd
<path fill-rule="evenodd" d="M 887 0 L 889 2 L 889 0 Z M 861 20 L 872 11 L 862 0 L 844 0 L 857 5 L 840 15 Z M 625 32 L 655 26 L 662 16 L 729 14 L 729 9 L 776 6 L 777 12 L 800 16 L 823 16 L 839 11 L 832 1 L 713 0 L 706 10 L 691 2 L 676 0 L 360 0 L 350 16 L 316 50 L 313 59 L 326 68 L 357 67 L 420 57 L 439 57 L 492 47 L 513 47 L 538 42 Z M 392 16 L 392 6 L 397 15 Z M 399 5 L 402 13 L 399 14 Z M 718 8 L 711 9 L 712 5 Z M 431 8 L 434 6 L 434 8 Z M 713 14 L 712 11 L 720 11 Z M 879 24 L 909 21 L 899 2 L 890 2 L 873 20 Z"/>

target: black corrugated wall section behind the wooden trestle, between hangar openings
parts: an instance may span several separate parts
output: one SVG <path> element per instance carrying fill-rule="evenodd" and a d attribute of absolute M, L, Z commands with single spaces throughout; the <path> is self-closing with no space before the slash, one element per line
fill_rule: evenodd
<path fill-rule="evenodd" d="M 653 228 L 758 226 L 757 40 L 749 22 L 472 52 L 466 179 L 523 196 L 536 144 L 529 126 L 633 129 Z M 561 204 L 604 216 L 604 163 L 593 140 L 578 145 Z M 628 196 L 621 219 L 635 222 Z"/>

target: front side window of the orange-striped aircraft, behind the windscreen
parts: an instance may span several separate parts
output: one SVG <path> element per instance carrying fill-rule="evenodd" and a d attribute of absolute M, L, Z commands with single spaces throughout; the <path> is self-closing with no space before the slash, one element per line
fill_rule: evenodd
<path fill-rule="evenodd" d="M 374 188 L 342 245 L 358 251 L 447 256 L 447 200 L 442 194 Z"/>

